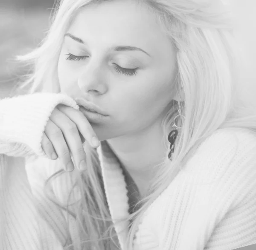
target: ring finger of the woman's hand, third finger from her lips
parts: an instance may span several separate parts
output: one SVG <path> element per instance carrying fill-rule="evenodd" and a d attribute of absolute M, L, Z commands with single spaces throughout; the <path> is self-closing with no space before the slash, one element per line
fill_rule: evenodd
<path fill-rule="evenodd" d="M 74 169 L 74 164 L 61 129 L 58 128 L 58 126 L 56 126 L 51 120 L 49 120 L 44 132 L 55 148 L 58 158 L 64 164 L 64 169 L 68 172 L 72 171 Z"/>

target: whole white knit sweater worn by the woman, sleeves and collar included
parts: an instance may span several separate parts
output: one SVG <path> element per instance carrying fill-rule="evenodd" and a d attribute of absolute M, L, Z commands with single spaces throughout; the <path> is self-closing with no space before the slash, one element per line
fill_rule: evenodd
<path fill-rule="evenodd" d="M 67 214 L 43 192 L 47 177 L 63 167 L 41 148 L 44 126 L 58 103 L 79 109 L 61 93 L 0 100 L 0 250 L 61 250 L 67 240 Z M 106 141 L 97 151 L 115 221 L 128 215 L 124 176 Z M 232 250 L 256 244 L 255 133 L 217 130 L 184 170 L 145 213 L 134 249 Z M 66 202 L 77 174 L 56 178 L 52 194 Z M 79 198 L 76 190 L 73 198 Z M 73 221 L 70 232 L 78 239 Z M 128 225 L 118 224 L 116 232 L 123 248 Z"/>

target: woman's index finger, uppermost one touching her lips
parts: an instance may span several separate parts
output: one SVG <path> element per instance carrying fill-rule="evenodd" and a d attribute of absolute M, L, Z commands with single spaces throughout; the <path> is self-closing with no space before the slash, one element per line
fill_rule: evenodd
<path fill-rule="evenodd" d="M 58 109 L 67 115 L 73 123 L 76 124 L 79 132 L 85 138 L 85 140 L 91 145 L 91 147 L 99 147 L 99 139 L 90 125 L 87 118 L 79 110 L 73 109 L 68 106 L 59 105 Z"/>

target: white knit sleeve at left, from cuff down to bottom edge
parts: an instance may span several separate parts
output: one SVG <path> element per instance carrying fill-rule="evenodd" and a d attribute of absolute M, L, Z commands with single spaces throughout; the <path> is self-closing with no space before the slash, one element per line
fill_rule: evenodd
<path fill-rule="evenodd" d="M 79 109 L 72 98 L 61 93 L 35 93 L 0 100 L 1 250 L 63 249 L 52 229 L 38 216 L 35 206 L 36 196 L 41 201 L 36 187 L 39 189 L 42 182 L 41 175 L 35 175 L 40 167 L 35 160 L 41 156 L 40 161 L 51 161 L 41 148 L 41 138 L 52 110 L 59 103 Z M 33 171 L 28 160 L 34 163 Z M 32 181 L 37 185 L 32 185 Z M 50 210 L 50 204 L 48 207 Z"/>

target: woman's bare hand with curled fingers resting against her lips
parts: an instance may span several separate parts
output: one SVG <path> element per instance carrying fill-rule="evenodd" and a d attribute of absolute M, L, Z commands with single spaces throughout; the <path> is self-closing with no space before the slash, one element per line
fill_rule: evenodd
<path fill-rule="evenodd" d="M 87 118 L 79 110 L 64 104 L 57 105 L 44 130 L 41 142 L 44 152 L 54 160 L 60 158 L 65 170 L 70 172 L 74 169 L 71 151 L 76 167 L 84 170 L 86 154 L 82 143 L 85 140 L 92 147 L 99 146 L 99 139 Z"/>

